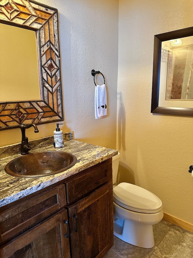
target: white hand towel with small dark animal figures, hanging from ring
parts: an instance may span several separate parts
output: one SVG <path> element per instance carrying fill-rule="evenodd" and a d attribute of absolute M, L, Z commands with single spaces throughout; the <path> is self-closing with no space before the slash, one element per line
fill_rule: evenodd
<path fill-rule="evenodd" d="M 107 116 L 106 108 L 106 86 L 96 85 L 95 87 L 95 118 L 101 119 Z"/>

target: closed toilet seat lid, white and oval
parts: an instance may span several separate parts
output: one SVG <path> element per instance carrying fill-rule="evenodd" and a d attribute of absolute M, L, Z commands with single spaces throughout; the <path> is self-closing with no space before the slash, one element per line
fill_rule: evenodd
<path fill-rule="evenodd" d="M 162 209 L 162 201 L 152 192 L 129 183 L 113 188 L 113 200 L 128 210 L 156 213 Z"/>

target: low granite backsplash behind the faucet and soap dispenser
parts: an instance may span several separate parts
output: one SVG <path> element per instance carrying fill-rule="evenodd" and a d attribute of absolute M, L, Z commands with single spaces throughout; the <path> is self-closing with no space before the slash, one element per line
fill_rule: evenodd
<path fill-rule="evenodd" d="M 73 140 L 72 132 L 65 132 L 64 142 L 67 142 L 70 140 Z M 54 136 L 49 136 L 49 137 L 29 141 L 29 144 L 30 146 L 33 146 L 33 149 L 40 149 L 42 147 L 47 147 L 49 145 L 52 145 L 53 141 L 54 141 Z M 20 154 L 20 152 L 21 152 L 21 143 L 0 147 L 0 159 L 9 157 L 12 155 Z"/>

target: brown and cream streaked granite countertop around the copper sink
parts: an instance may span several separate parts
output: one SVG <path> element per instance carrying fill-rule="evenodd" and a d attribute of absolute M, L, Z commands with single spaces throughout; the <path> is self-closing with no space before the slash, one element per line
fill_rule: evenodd
<path fill-rule="evenodd" d="M 77 158 L 76 164 L 68 170 L 56 175 L 45 176 L 40 178 L 17 178 L 8 175 L 4 167 L 12 159 L 21 156 L 21 154 L 12 155 L 9 157 L 1 158 L 0 160 L 0 207 L 16 201 L 24 196 L 32 194 L 41 190 L 49 185 L 59 182 L 71 175 L 74 175 L 86 168 L 89 168 L 97 163 L 100 163 L 108 158 L 117 155 L 117 151 L 92 145 L 85 142 L 76 140 L 69 140 L 65 142 L 64 148 L 55 149 L 53 145 L 42 147 L 33 150 L 33 152 L 43 151 L 64 151 L 74 154 Z"/>

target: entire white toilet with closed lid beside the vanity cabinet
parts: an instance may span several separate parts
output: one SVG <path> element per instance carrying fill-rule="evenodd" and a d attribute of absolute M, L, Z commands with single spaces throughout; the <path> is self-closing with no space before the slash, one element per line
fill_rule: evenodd
<path fill-rule="evenodd" d="M 114 186 L 119 166 L 118 155 L 112 157 L 114 235 L 132 245 L 154 246 L 153 225 L 163 218 L 162 201 L 155 194 L 129 183 Z"/>

